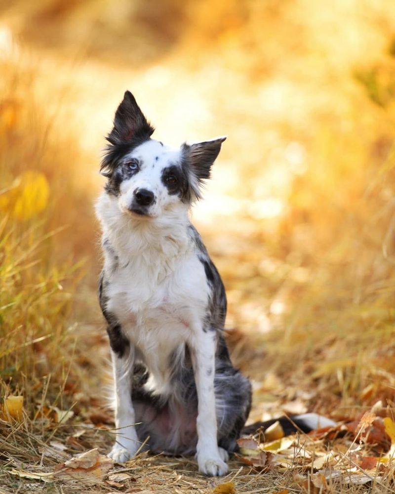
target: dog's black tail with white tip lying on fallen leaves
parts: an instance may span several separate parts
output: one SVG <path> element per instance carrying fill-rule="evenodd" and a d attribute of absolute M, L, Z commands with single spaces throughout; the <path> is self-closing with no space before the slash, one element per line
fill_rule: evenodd
<path fill-rule="evenodd" d="M 244 427 L 241 434 L 254 434 L 258 429 L 265 432 L 265 430 L 277 421 L 284 431 L 284 436 L 289 436 L 295 432 L 310 432 L 322 427 L 332 427 L 336 425 L 336 422 L 330 418 L 323 417 L 322 415 L 317 415 L 316 413 L 303 413 L 302 415 L 291 415 L 289 417 L 283 415 L 282 417 L 266 420 L 265 422 L 255 422 Z"/>

